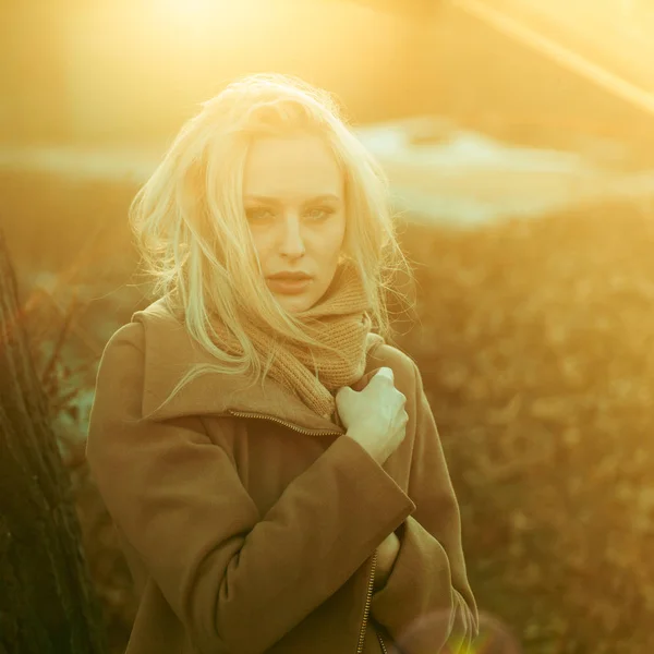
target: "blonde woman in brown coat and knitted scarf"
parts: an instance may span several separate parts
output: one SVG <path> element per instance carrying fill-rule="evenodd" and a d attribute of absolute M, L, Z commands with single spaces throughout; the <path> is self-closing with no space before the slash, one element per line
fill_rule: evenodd
<path fill-rule="evenodd" d="M 158 300 L 109 340 L 87 441 L 140 598 L 128 653 L 464 651 L 457 500 L 380 336 L 387 185 L 334 100 L 230 84 L 131 218 Z"/>

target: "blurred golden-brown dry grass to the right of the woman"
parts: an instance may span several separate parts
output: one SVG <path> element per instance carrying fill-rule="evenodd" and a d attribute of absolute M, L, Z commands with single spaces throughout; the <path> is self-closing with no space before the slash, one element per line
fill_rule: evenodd
<path fill-rule="evenodd" d="M 654 651 L 654 213 L 410 229 L 417 360 L 480 604 L 535 653 Z"/>

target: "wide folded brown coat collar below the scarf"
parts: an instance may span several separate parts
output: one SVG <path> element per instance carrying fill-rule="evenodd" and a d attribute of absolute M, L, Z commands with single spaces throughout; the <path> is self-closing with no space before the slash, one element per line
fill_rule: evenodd
<path fill-rule="evenodd" d="M 329 416 L 314 413 L 271 378 L 267 378 L 263 385 L 247 388 L 247 380 L 243 376 L 209 372 L 166 401 L 192 366 L 211 364 L 214 359 L 192 339 L 184 326 L 168 311 L 164 300 L 135 312 L 132 322 L 142 323 L 145 331 L 144 417 L 167 420 L 182 415 L 254 413 L 316 434 L 344 432 Z"/>

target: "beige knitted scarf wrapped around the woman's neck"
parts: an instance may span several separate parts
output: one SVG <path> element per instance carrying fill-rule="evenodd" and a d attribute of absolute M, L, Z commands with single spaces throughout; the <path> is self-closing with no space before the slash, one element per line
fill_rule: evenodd
<path fill-rule="evenodd" d="M 276 341 L 265 329 L 246 323 L 246 331 L 259 354 L 276 352 L 269 375 L 296 395 L 310 409 L 324 417 L 336 411 L 334 392 L 351 386 L 365 372 L 368 352 L 384 339 L 371 332 L 370 306 L 355 266 L 342 264 L 327 293 L 310 310 L 295 314 L 307 332 L 318 341 L 342 352 L 344 361 L 329 352 L 312 352 L 293 342 Z M 218 334 L 226 331 L 215 325 Z M 231 347 L 230 347 L 231 344 Z M 233 339 L 221 348 L 238 351 Z"/>

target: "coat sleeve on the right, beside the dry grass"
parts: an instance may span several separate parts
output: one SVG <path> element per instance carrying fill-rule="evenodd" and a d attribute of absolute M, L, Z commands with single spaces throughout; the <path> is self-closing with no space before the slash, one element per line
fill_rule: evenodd
<path fill-rule="evenodd" d="M 477 635 L 477 607 L 465 571 L 459 505 L 420 371 L 412 365 L 409 496 L 416 509 L 397 530 L 400 549 L 371 611 L 404 654 L 463 654 Z"/>

